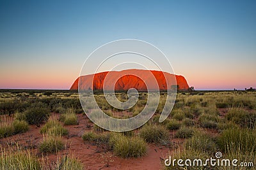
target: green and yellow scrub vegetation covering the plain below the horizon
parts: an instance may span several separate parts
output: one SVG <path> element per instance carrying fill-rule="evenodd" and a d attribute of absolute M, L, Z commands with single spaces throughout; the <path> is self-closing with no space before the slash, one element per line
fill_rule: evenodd
<path fill-rule="evenodd" d="M 125 93 L 118 93 L 116 97 L 120 101 L 128 99 Z M 147 104 L 146 93 L 140 93 L 136 105 L 126 111 L 113 108 L 102 94 L 95 98 L 100 109 L 115 118 L 134 117 Z M 256 92 L 178 93 L 172 113 L 162 123 L 159 117 L 166 94 L 161 93 L 160 99 L 156 113 L 147 124 L 130 132 L 105 131 L 83 114 L 88 123 L 79 138 L 124 159 L 145 157 L 150 145 L 161 145 L 169 148 L 173 159 L 209 159 L 221 152 L 225 159 L 256 164 Z M 90 113 L 94 109 L 93 105 L 88 106 L 87 111 Z M 68 128 L 79 125 L 77 114 L 83 113 L 76 92 L 1 92 L 0 113 L 0 139 L 29 133 L 32 128 L 39 128 L 42 135 L 34 148 L 40 154 L 31 148 L 20 147 L 19 143 L 12 144 L 11 149 L 1 145 L 0 169 L 83 169 L 84 165 L 76 157 L 58 154 L 68 150 Z M 52 116 L 54 114 L 58 117 Z M 48 154 L 58 155 L 54 166 L 47 162 Z M 163 155 L 163 159 L 168 157 Z M 164 167 L 163 163 L 163 169 L 179 168 Z"/>

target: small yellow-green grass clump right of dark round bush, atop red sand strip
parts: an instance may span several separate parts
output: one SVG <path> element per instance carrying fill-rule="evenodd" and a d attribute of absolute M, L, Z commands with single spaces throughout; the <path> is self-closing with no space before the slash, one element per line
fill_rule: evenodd
<path fill-rule="evenodd" d="M 73 108 L 68 108 L 66 113 L 61 114 L 61 122 L 64 122 L 64 125 L 77 125 L 77 116 Z"/>

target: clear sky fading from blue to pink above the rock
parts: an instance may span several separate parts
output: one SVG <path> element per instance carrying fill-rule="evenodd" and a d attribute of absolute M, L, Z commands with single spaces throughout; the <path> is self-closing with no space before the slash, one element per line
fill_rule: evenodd
<path fill-rule="evenodd" d="M 0 1 L 0 89 L 69 89 L 117 39 L 159 48 L 197 90 L 256 87 L 256 1 Z"/>

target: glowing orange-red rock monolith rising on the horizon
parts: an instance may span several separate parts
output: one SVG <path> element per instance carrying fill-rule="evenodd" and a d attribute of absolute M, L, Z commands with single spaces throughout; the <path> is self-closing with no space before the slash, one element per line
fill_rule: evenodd
<path fill-rule="evenodd" d="M 176 81 L 175 81 L 176 78 Z M 176 83 L 177 82 L 177 83 Z M 70 90 L 167 90 L 179 85 L 179 90 L 188 90 L 189 86 L 183 76 L 162 71 L 127 69 L 123 71 L 106 71 L 102 73 L 80 76 L 74 81 Z M 158 87 L 157 87 L 158 86 Z"/>

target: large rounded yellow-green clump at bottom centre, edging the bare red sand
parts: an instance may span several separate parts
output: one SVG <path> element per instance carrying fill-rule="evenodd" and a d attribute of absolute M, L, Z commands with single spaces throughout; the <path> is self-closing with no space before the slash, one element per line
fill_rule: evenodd
<path fill-rule="evenodd" d="M 118 138 L 115 138 L 113 151 L 116 155 L 123 158 L 141 157 L 147 152 L 147 144 L 139 137 L 134 136 L 130 138 L 120 135 Z"/>

